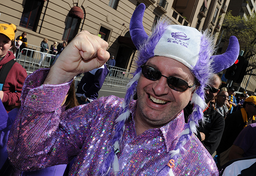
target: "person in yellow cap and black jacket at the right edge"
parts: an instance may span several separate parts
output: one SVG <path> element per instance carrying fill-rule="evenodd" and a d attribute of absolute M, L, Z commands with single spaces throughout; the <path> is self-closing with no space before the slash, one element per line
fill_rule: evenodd
<path fill-rule="evenodd" d="M 228 155 L 233 142 L 241 130 L 255 122 L 256 96 L 249 96 L 243 103 L 243 108 L 229 114 L 225 119 L 225 128 L 218 146 L 217 153 L 220 155 L 220 166 L 227 163 Z"/>

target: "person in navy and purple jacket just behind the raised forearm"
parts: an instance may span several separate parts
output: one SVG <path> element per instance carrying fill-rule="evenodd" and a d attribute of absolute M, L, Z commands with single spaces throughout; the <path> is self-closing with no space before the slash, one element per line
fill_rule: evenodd
<path fill-rule="evenodd" d="M 109 70 L 105 64 L 85 73 L 76 92 L 79 104 L 91 103 L 98 98 L 98 92 L 108 73 Z"/>

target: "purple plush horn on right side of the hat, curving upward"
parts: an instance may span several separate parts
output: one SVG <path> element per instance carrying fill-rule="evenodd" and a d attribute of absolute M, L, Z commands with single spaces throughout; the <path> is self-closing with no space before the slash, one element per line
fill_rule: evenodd
<path fill-rule="evenodd" d="M 238 39 L 235 36 L 231 36 L 226 52 L 221 55 L 213 55 L 210 57 L 210 59 L 214 60 L 211 63 L 213 66 L 213 73 L 219 73 L 233 65 L 238 58 L 239 52 L 240 47 Z"/>

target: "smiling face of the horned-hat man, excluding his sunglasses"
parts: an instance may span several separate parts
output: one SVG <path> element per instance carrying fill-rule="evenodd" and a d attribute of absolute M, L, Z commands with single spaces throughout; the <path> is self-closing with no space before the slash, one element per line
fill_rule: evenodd
<path fill-rule="evenodd" d="M 195 82 L 189 68 L 174 59 L 155 56 L 145 65 L 157 68 L 166 77 L 173 76 L 185 80 L 188 85 Z M 176 118 L 191 100 L 192 92 L 193 88 L 183 92 L 171 89 L 165 77 L 152 81 L 142 75 L 137 85 L 138 103 L 135 118 L 149 128 L 161 127 Z"/>

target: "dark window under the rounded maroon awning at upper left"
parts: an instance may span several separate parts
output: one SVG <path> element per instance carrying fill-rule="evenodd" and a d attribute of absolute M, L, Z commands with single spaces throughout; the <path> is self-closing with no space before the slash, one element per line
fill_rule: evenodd
<path fill-rule="evenodd" d="M 81 23 L 81 18 L 73 15 L 68 15 L 67 24 L 63 33 L 62 40 L 70 41 L 78 33 L 79 25 Z"/>

